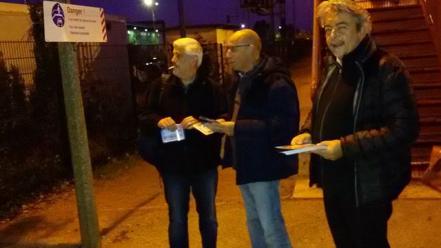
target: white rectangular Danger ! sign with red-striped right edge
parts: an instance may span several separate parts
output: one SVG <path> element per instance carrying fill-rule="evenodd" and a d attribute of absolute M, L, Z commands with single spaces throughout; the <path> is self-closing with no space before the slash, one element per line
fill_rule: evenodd
<path fill-rule="evenodd" d="M 48 42 L 107 42 L 103 8 L 43 1 Z"/>

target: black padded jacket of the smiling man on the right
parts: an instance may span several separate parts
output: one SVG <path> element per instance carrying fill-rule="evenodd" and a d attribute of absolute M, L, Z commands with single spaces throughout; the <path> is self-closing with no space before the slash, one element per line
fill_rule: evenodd
<path fill-rule="evenodd" d="M 340 72 L 341 70 L 341 72 Z M 357 206 L 393 200 L 411 178 L 411 145 L 419 132 L 419 116 L 408 72 L 402 62 L 376 48 L 366 37 L 343 57 L 342 67 L 334 59 L 322 73 L 314 104 L 300 132 L 311 130 L 322 89 L 331 74 L 358 82 L 353 99 L 353 134 L 341 137 L 344 158 L 353 166 Z M 320 104 L 325 104 L 321 103 Z M 310 185 L 320 186 L 320 158 L 311 157 Z"/>

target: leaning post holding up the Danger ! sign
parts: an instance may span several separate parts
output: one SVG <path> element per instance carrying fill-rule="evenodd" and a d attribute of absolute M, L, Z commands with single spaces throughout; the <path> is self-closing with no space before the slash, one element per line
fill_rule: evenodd
<path fill-rule="evenodd" d="M 63 2 L 63 1 L 61 1 Z M 64 1 L 70 3 L 69 0 Z M 68 122 L 82 247 L 101 247 L 76 52 L 72 43 L 58 43 L 65 111 Z"/>

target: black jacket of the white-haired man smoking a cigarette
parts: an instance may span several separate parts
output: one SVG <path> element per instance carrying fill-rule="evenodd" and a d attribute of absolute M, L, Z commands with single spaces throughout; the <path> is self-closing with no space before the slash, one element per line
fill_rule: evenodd
<path fill-rule="evenodd" d="M 218 118 L 225 113 L 227 103 L 220 86 L 203 74 L 185 89 L 181 79 L 170 76 L 161 97 L 161 80 L 155 81 L 148 89 L 147 103 L 140 107 L 139 122 L 141 132 L 158 135 L 158 121 L 170 116 L 181 123 L 187 116 L 198 118 L 207 116 Z M 205 136 L 196 129 L 185 130 L 185 140 L 162 143 L 159 147 L 160 162 L 156 165 L 159 172 L 192 175 L 220 165 L 220 134 Z"/>

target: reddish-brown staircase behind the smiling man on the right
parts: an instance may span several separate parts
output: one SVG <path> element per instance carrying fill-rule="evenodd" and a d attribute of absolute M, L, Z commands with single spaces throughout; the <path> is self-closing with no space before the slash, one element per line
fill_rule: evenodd
<path fill-rule="evenodd" d="M 441 144 L 440 55 L 420 4 L 368 11 L 378 47 L 398 56 L 411 75 L 420 110 L 420 137 L 412 148 L 413 177 L 418 177 L 429 165 L 431 147 Z"/>

